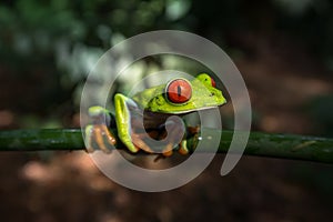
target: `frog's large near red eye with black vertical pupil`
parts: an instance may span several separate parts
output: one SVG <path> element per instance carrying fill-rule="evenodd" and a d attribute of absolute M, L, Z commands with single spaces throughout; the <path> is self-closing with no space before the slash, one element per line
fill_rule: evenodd
<path fill-rule="evenodd" d="M 191 99 L 192 87 L 184 79 L 175 79 L 169 82 L 165 88 L 168 100 L 173 103 L 184 103 Z"/>

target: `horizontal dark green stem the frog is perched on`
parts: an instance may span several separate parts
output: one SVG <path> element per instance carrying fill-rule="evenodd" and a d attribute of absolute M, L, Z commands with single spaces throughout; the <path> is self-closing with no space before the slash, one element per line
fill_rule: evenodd
<path fill-rule="evenodd" d="M 211 134 L 216 134 L 216 130 L 213 129 L 205 129 L 205 132 L 206 137 L 210 135 L 210 132 Z M 228 152 L 232 137 L 232 131 L 223 130 L 218 150 L 219 153 Z M 190 147 L 196 142 L 196 138 L 189 139 Z M 123 149 L 121 145 L 117 148 Z M 84 150 L 81 130 L 42 129 L 0 131 L 0 151 L 48 150 Z M 210 152 L 210 148 L 206 151 Z M 333 139 L 251 132 L 244 154 L 333 163 Z"/>

